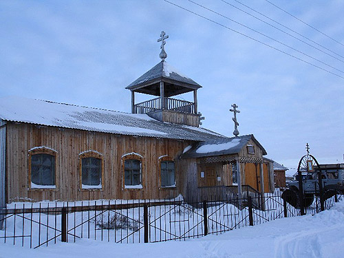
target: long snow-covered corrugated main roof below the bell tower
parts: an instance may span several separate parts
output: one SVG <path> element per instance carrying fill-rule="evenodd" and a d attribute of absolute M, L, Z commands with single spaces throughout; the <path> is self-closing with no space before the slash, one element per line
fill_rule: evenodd
<path fill-rule="evenodd" d="M 0 119 L 129 136 L 203 141 L 225 138 L 213 131 L 160 122 L 146 114 L 127 114 L 29 98 L 0 98 Z"/>

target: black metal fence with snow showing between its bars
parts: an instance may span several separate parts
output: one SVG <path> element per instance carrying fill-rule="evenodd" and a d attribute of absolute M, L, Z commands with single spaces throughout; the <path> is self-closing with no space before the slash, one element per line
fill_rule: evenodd
<path fill-rule="evenodd" d="M 338 198 L 341 195 L 328 199 L 325 208 Z M 316 198 L 306 213 L 319 211 Z M 11 204 L 0 210 L 0 239 L 30 248 L 82 238 L 114 243 L 181 241 L 297 215 L 299 209 L 283 202 L 278 193 L 216 202 L 180 199 Z"/>

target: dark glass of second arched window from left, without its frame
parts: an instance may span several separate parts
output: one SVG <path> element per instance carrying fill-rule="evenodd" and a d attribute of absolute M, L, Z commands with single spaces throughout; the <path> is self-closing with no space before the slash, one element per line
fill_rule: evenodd
<path fill-rule="evenodd" d="M 83 189 L 102 188 L 102 160 L 100 158 L 83 158 L 81 170 Z"/>

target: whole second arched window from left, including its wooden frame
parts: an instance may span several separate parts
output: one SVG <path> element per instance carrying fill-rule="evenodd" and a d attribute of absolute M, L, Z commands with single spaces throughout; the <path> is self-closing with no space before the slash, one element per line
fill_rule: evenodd
<path fill-rule="evenodd" d="M 81 190 L 101 190 L 103 187 L 103 155 L 98 151 L 79 154 L 79 185 Z"/>

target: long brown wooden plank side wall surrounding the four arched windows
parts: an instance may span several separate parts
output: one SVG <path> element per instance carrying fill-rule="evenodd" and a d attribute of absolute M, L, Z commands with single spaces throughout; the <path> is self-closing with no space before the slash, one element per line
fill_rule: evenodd
<path fill-rule="evenodd" d="M 8 202 L 41 200 L 155 199 L 176 197 L 180 189 L 180 164 L 176 159 L 175 188 L 161 189 L 159 157 L 177 158 L 191 142 L 161 138 L 122 136 L 57 127 L 8 123 Z M 34 147 L 57 151 L 56 190 L 28 190 L 28 151 Z M 78 155 L 94 150 L 104 155 L 103 191 L 80 190 Z M 122 155 L 143 156 L 143 189 L 122 189 Z"/>

